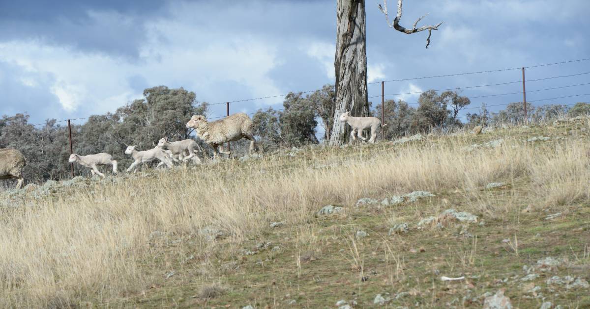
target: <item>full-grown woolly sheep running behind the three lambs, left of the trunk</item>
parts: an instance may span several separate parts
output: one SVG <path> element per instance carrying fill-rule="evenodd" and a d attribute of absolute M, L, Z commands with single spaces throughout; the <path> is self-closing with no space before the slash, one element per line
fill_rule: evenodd
<path fill-rule="evenodd" d="M 255 148 L 254 122 L 243 112 L 230 115 L 217 121 L 209 122 L 202 115 L 193 115 L 186 124 L 187 128 L 194 128 L 196 136 L 205 141 L 214 150 L 213 159 L 221 154 L 231 154 L 230 151 L 219 150 L 219 145 L 241 138 L 250 139 L 250 152 Z"/>

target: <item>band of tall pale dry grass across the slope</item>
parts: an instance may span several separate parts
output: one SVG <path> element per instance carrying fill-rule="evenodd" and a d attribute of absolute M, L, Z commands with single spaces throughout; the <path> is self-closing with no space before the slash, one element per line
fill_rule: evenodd
<path fill-rule="evenodd" d="M 545 204 L 588 201 L 588 143 L 507 142 L 466 152 L 467 137 L 391 147 L 310 148 L 298 157 L 176 168 L 155 177 L 99 184 L 0 210 L 0 298 L 5 307 L 106 304 L 138 293 L 162 273 L 149 270 L 162 250 L 153 231 L 191 238 L 201 257 L 216 250 L 202 237 L 217 228 L 239 244 L 271 221 L 309 221 L 322 205 L 413 190 L 465 190 L 493 214 L 521 197 Z M 512 147 L 512 146 L 515 147 Z M 338 163 L 337 166 L 322 167 Z M 488 182 L 523 184 L 510 202 L 486 200 Z M 180 253 L 179 253 L 180 254 Z M 114 303 L 117 304 L 117 303 Z"/>

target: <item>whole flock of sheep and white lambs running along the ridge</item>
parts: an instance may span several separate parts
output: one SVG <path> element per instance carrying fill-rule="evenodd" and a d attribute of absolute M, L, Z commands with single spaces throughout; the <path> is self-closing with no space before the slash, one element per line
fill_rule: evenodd
<path fill-rule="evenodd" d="M 367 141 L 366 138 L 362 137 L 362 131 L 371 128 L 371 138 L 369 138 L 368 142 L 375 142 L 376 129 L 385 126 L 376 117 L 352 117 L 350 112 L 340 115 L 340 121 L 346 122 L 352 127 L 353 141 L 356 140 L 356 136 L 363 141 Z M 195 129 L 196 136 L 213 148 L 214 160 L 220 154 L 230 154 L 229 149 L 228 151 L 219 149 L 219 146 L 225 142 L 246 138 L 250 140 L 249 150 L 254 151 L 256 148 L 254 123 L 248 115 L 242 112 L 212 122 L 207 121 L 205 116 L 193 115 L 191 120 L 186 123 L 186 128 Z M 136 170 L 139 164 L 154 160 L 160 161 L 158 167 L 166 165 L 169 168 L 172 167 L 173 162 L 187 162 L 189 160 L 201 162 L 201 159 L 196 155 L 200 147 L 193 139 L 171 142 L 168 141 L 168 138 L 162 138 L 155 148 L 145 151 L 137 151 L 135 148 L 136 146 L 129 146 L 125 149 L 125 154 L 131 155 L 134 160 L 130 167 L 127 168 L 127 172 Z M 98 170 L 97 166 L 112 165 L 113 173 L 117 174 L 117 161 L 113 160 L 112 155 L 104 152 L 91 155 L 71 154 L 68 162 L 77 162 L 84 167 L 90 168 L 92 175 L 99 175 L 100 177 L 104 177 L 104 174 Z M 21 188 L 24 181 L 22 168 L 26 164 L 25 157 L 20 151 L 16 149 L 0 149 L 0 180 L 18 180 L 17 188 Z"/>

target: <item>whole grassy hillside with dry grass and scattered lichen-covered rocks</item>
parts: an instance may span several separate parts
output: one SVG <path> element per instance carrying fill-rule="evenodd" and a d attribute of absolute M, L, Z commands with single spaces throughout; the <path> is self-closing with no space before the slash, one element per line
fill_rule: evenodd
<path fill-rule="evenodd" d="M 514 307 L 589 307 L 589 125 L 7 192 L 0 305 L 480 308 L 504 290 Z"/>

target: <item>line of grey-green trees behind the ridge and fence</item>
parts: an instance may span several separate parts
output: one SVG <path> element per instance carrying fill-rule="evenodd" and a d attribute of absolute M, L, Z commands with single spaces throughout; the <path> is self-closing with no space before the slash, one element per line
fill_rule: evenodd
<path fill-rule="evenodd" d="M 290 93 L 284 98 L 282 109 L 259 109 L 252 115 L 257 141 L 264 151 L 281 147 L 299 147 L 318 143 L 330 136 L 335 110 L 334 89 L 325 85 L 312 94 Z M 73 124 L 72 137 L 74 152 L 96 154 L 108 152 L 120 162 L 119 170 L 131 163 L 124 155 L 127 145 L 137 145 L 139 149 L 149 149 L 162 137 L 172 140 L 192 138 L 192 129 L 185 127 L 192 115 L 208 115 L 207 102 L 196 101 L 195 93 L 186 89 L 170 89 L 165 86 L 153 87 L 143 91 L 143 98 L 125 104 L 113 114 L 93 115 L 83 125 Z M 464 125 L 494 125 L 504 122 L 522 121 L 522 103 L 507 105 L 506 109 L 490 113 L 486 105 L 467 117 L 459 118 L 461 109 L 470 104 L 467 97 L 457 91 L 438 94 L 427 91 L 420 95 L 415 105 L 403 100 L 385 102 L 386 138 L 428 132 L 431 129 L 450 129 Z M 552 118 L 557 115 L 586 114 L 588 104 L 578 104 L 573 108 L 565 105 L 546 105 L 542 108 L 529 108 L 529 118 Z M 381 119 L 382 107 L 377 105 L 373 115 Z M 50 119 L 43 126 L 33 126 L 29 116 L 17 114 L 0 118 L 0 148 L 15 148 L 27 158 L 25 178 L 28 181 L 57 180 L 68 178 L 70 155 L 67 124 Z M 322 134 L 317 127 L 323 127 Z M 247 151 L 245 141 L 232 142 L 232 152 L 236 155 Z M 211 149 L 201 144 L 205 151 Z M 211 155 L 211 153 L 209 153 Z M 77 174 L 87 174 L 76 167 Z"/>

